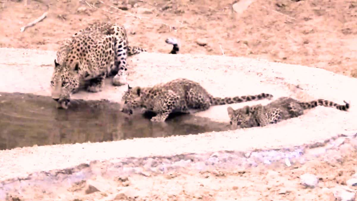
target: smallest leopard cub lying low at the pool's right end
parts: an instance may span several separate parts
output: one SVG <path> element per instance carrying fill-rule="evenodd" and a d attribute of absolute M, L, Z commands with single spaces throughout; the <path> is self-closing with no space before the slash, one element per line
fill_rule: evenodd
<path fill-rule="evenodd" d="M 234 110 L 232 107 L 227 108 L 228 116 L 231 119 L 232 129 L 263 127 L 267 124 L 280 122 L 283 119 L 289 119 L 301 116 L 305 109 L 317 106 L 334 107 L 338 110 L 347 111 L 350 104 L 343 101 L 345 105 L 339 105 L 329 100 L 318 99 L 310 102 L 300 102 L 290 97 L 281 97 L 277 100 L 262 106 L 245 106 Z"/>

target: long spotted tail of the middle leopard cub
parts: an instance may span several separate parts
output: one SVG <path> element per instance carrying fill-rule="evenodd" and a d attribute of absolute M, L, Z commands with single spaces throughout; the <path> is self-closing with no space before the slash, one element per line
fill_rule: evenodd
<path fill-rule="evenodd" d="M 210 97 L 210 101 L 212 106 L 218 106 L 218 105 L 225 105 L 225 104 L 232 104 L 232 103 L 247 102 L 251 100 L 261 100 L 261 99 L 271 99 L 271 98 L 273 98 L 273 95 L 267 93 L 261 93 L 258 95 L 243 95 L 243 96 L 236 96 L 232 98 Z"/>

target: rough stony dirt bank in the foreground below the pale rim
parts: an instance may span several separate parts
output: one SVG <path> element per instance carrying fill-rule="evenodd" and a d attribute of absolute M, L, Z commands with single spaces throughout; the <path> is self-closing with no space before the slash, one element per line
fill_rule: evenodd
<path fill-rule="evenodd" d="M 0 200 L 353 201 L 356 134 L 275 150 L 96 160 L 2 181 Z"/>

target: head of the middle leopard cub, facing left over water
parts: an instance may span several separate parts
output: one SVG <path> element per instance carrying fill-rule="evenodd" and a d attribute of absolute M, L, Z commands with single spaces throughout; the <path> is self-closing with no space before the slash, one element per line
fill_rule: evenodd
<path fill-rule="evenodd" d="M 128 90 L 124 93 L 121 99 L 122 109 L 121 112 L 126 114 L 132 114 L 133 109 L 139 108 L 141 106 L 141 88 L 140 87 L 130 87 L 128 84 Z"/>

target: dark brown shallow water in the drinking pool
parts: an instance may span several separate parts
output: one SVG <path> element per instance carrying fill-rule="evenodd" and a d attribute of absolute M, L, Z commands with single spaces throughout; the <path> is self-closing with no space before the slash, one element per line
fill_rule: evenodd
<path fill-rule="evenodd" d="M 103 142 L 136 137 L 166 137 L 226 131 L 228 123 L 189 114 L 174 114 L 165 124 L 152 123 L 152 114 L 130 118 L 118 103 L 75 100 L 57 109 L 50 97 L 0 92 L 0 150 L 37 144 Z"/>

